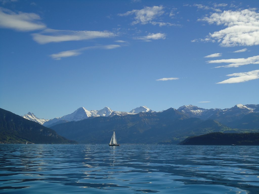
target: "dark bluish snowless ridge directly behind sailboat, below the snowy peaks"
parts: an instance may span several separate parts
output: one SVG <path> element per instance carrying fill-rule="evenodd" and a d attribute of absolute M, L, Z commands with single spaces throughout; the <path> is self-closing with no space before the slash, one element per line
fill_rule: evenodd
<path fill-rule="evenodd" d="M 170 141 L 172 144 L 177 144 L 193 134 L 229 130 L 213 120 L 188 118 L 173 108 L 159 113 L 95 117 L 58 124 L 51 128 L 80 143 L 109 143 L 113 130 L 116 131 L 118 143 Z"/>

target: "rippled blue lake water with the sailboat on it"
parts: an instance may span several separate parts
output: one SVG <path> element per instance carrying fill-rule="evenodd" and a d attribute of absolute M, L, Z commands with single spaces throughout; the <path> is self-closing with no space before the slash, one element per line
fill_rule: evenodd
<path fill-rule="evenodd" d="M 0 193 L 259 193 L 259 146 L 0 145 Z"/>

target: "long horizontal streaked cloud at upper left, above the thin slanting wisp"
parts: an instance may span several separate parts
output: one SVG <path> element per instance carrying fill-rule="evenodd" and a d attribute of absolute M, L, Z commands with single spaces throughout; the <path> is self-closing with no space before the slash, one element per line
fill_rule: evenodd
<path fill-rule="evenodd" d="M 46 34 L 46 35 L 45 35 Z M 109 31 L 73 31 L 73 30 L 55 30 L 45 29 L 41 33 L 32 34 L 33 40 L 40 44 L 50 42 L 78 41 L 95 38 L 110 38 L 117 36 Z"/>

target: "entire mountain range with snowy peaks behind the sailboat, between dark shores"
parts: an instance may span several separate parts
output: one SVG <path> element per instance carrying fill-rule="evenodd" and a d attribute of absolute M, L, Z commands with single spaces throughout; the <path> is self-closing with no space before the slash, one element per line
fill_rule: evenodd
<path fill-rule="evenodd" d="M 239 104 L 226 109 L 203 109 L 187 105 L 161 112 L 144 106 L 130 112 L 108 107 L 88 111 L 81 107 L 69 115 L 46 120 L 43 125 L 51 121 L 49 128 L 78 143 L 107 143 L 115 130 L 119 143 L 177 144 L 187 137 L 211 132 L 259 132 L 258 107 Z M 27 118 L 38 119 L 33 113 Z M 36 124 L 37 128 L 42 126 Z"/>

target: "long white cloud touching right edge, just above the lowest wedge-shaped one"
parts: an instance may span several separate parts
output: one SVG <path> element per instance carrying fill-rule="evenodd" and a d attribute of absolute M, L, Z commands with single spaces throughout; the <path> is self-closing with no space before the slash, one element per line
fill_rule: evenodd
<path fill-rule="evenodd" d="M 248 58 L 238 58 L 238 59 L 220 59 L 220 60 L 212 60 L 212 61 L 206 61 L 207 63 L 231 63 L 229 65 L 224 66 L 218 66 L 216 68 L 220 67 L 239 67 L 242 65 L 248 65 L 248 64 L 259 64 L 259 55 L 248 57 Z"/>

